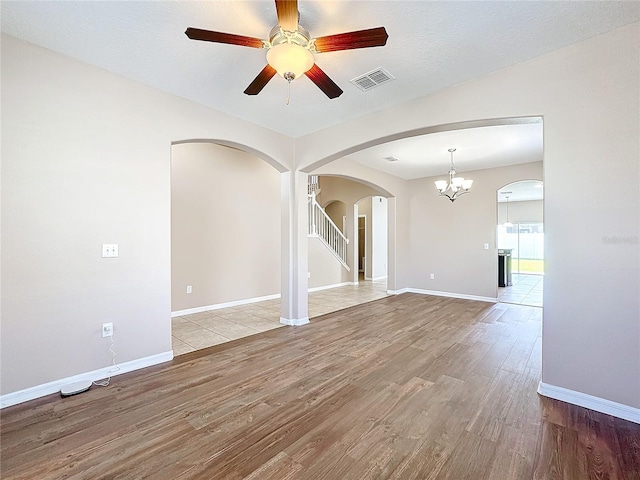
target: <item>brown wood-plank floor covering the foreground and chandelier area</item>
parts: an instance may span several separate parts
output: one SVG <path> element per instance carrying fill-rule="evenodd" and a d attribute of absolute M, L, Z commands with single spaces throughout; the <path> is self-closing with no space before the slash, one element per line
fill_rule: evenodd
<path fill-rule="evenodd" d="M 640 479 L 539 397 L 541 309 L 404 294 L 1 412 L 3 479 Z"/>

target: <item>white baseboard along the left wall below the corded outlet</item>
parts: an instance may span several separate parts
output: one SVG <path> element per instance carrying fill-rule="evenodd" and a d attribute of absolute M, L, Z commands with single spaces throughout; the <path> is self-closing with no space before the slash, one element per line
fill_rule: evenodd
<path fill-rule="evenodd" d="M 78 375 L 73 375 L 71 377 L 61 378 L 60 380 L 54 380 L 42 385 L 36 385 L 35 387 L 25 388 L 24 390 L 18 390 L 17 392 L 7 393 L 5 395 L 0 395 L 0 408 L 10 407 L 12 405 L 17 405 L 18 403 L 35 400 L 36 398 L 44 397 L 45 395 L 57 393 L 64 385 L 69 383 L 83 380 L 93 382 L 109 376 L 114 377 L 122 373 L 128 373 L 141 368 L 157 365 L 159 363 L 168 362 L 172 359 L 173 350 L 170 350 L 168 352 L 138 358 L 137 360 L 119 363 L 115 366 L 110 365 L 91 372 L 79 373 Z"/>

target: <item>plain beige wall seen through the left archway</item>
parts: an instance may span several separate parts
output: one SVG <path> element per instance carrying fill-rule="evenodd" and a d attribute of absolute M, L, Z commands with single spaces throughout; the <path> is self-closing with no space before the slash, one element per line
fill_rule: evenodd
<path fill-rule="evenodd" d="M 172 311 L 279 293 L 278 171 L 234 148 L 173 145 Z"/>

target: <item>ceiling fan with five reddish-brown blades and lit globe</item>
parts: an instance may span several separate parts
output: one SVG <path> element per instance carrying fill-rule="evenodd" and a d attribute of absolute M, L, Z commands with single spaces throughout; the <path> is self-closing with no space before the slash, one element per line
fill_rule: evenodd
<path fill-rule="evenodd" d="M 298 24 L 298 1 L 275 0 L 275 2 L 278 25 L 271 30 L 269 40 L 192 27 L 184 32 L 191 40 L 266 49 L 267 65 L 244 91 L 247 95 L 260 93 L 269 80 L 278 73 L 289 83 L 304 74 L 327 97 L 339 97 L 343 93 L 342 89 L 318 67 L 313 54 L 380 47 L 387 43 L 389 35 L 384 27 L 311 38 L 309 32 Z"/>

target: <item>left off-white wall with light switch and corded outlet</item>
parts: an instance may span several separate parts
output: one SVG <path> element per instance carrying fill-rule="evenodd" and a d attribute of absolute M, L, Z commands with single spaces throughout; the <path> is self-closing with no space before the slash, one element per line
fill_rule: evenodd
<path fill-rule="evenodd" d="M 222 138 L 285 170 L 293 141 L 6 35 L 1 53 L 0 392 L 108 366 L 103 322 L 118 362 L 170 357 L 171 143 Z"/>

